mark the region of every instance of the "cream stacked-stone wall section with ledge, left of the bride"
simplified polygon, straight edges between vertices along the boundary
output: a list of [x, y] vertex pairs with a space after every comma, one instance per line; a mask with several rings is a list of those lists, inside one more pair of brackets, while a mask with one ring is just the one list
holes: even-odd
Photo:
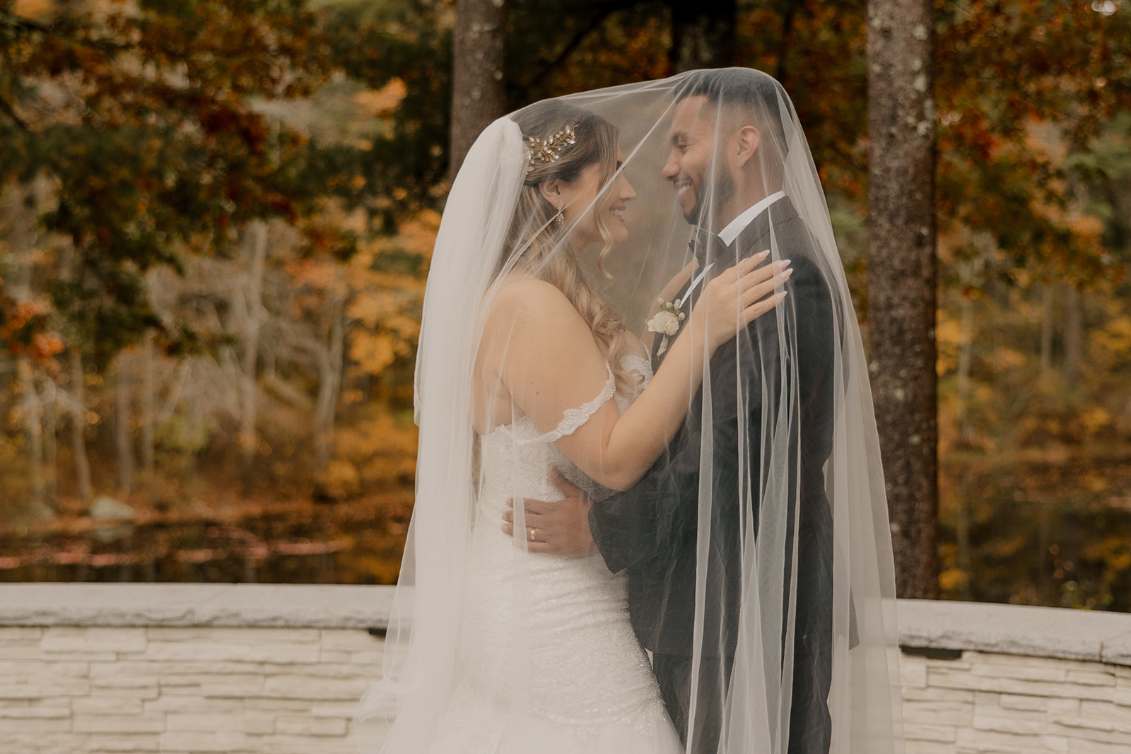
[[[356, 754], [387, 589], [0, 586], [0, 753]], [[14, 623], [21, 625], [11, 625]]]

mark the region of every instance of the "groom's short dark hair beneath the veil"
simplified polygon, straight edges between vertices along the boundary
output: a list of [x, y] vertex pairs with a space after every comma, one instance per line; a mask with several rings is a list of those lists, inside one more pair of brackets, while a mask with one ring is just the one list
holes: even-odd
[[795, 116], [789, 96], [772, 76], [751, 68], [691, 71], [676, 85], [675, 101], [697, 96], [706, 97], [720, 114], [748, 116], [759, 130], [768, 128], [766, 136], [772, 139], [785, 161]]

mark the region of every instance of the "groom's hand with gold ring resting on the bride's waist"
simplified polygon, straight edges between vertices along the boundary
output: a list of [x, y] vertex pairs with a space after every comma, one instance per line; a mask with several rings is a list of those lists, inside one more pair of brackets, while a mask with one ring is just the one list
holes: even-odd
[[[589, 532], [589, 506], [593, 501], [569, 482], [561, 471], [550, 469], [550, 482], [566, 495], [562, 500], [523, 500], [526, 511], [526, 548], [532, 553], [550, 553], [580, 557], [596, 545]], [[507, 501], [502, 530], [515, 536], [515, 501]]]

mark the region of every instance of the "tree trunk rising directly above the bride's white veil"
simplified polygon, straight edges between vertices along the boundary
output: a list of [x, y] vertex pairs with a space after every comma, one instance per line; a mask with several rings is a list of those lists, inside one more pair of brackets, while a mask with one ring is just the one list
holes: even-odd
[[451, 148], [452, 179], [472, 144], [493, 120], [507, 113], [503, 54], [506, 0], [456, 0], [452, 31]]

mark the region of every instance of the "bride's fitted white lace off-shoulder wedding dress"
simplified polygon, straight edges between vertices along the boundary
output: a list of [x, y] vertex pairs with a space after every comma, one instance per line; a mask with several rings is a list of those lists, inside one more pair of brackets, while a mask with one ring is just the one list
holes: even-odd
[[[647, 382], [647, 359], [627, 357]], [[599, 499], [554, 445], [610, 397], [566, 411], [541, 434], [529, 417], [480, 439], [481, 492], [465, 564], [452, 691], [433, 754], [675, 754], [651, 665], [629, 621], [625, 579], [599, 554], [530, 554], [501, 531], [508, 497], [558, 500], [551, 466]], [[629, 400], [615, 395], [623, 413]]]

